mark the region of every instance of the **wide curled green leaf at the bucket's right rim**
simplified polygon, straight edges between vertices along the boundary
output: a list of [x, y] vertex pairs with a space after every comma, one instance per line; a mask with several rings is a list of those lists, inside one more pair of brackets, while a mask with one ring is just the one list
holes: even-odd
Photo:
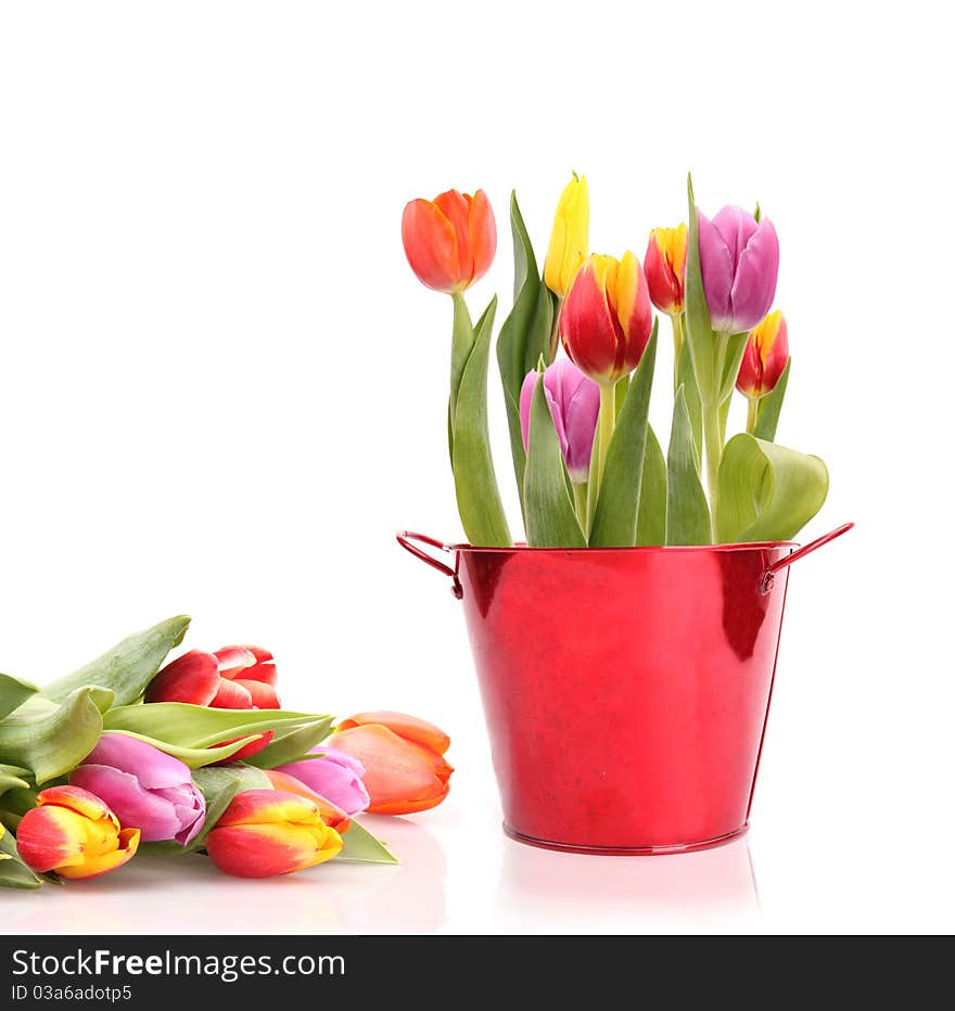
[[735, 435], [720, 463], [720, 541], [790, 540], [822, 509], [828, 490], [818, 457]]

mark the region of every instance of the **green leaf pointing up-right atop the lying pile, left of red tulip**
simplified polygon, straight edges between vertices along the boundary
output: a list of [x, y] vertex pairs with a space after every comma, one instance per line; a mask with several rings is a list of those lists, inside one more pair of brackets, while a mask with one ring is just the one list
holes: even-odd
[[124, 639], [92, 663], [42, 689], [47, 699], [63, 702], [77, 688], [96, 684], [115, 695], [114, 705], [129, 705], [145, 691], [169, 650], [179, 645], [190, 618], [180, 614]]

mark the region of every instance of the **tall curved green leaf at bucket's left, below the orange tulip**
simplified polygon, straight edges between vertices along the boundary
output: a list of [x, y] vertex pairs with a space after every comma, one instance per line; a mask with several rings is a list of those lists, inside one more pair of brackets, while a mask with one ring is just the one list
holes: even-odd
[[497, 297], [474, 328], [474, 346], [464, 364], [455, 406], [454, 474], [458, 512], [472, 545], [510, 547], [487, 431], [487, 358]]

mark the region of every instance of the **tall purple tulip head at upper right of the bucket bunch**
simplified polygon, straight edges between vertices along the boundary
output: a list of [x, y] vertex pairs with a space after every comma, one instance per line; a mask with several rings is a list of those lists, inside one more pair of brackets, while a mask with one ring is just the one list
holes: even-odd
[[717, 333], [748, 333], [773, 307], [779, 272], [776, 229], [741, 207], [724, 207], [712, 221], [698, 216], [710, 322]]

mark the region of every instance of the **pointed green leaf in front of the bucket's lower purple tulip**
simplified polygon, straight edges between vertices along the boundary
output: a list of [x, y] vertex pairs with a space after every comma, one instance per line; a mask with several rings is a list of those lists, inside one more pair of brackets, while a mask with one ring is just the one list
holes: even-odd
[[586, 548], [587, 541], [568, 491], [560, 440], [538, 372], [531, 400], [527, 466], [524, 470], [524, 516], [532, 548]]

